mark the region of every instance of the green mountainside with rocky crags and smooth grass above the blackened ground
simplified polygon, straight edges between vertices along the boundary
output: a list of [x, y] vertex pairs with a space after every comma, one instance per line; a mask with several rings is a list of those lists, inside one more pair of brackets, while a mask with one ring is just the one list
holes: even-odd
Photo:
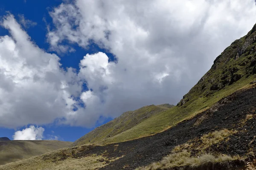
[[[250, 82], [256, 79], [255, 74], [256, 25], [246, 36], [234, 41], [215, 59], [212, 68], [188, 94], [183, 96], [177, 106], [153, 114], [131, 128], [120, 130], [121, 133], [112, 133], [116, 124], [108, 124], [108, 126], [103, 126], [104, 131], [107, 132], [104, 133], [103, 138], [96, 137], [101, 136], [102, 133], [94, 130], [93, 135], [86, 135], [79, 139], [79, 142], [85, 141], [84, 143], [87, 143], [90, 140], [91, 142], [108, 144], [159, 133], [183, 120], [192, 118], [240, 88], [246, 88]], [[111, 135], [106, 137], [106, 134]]]

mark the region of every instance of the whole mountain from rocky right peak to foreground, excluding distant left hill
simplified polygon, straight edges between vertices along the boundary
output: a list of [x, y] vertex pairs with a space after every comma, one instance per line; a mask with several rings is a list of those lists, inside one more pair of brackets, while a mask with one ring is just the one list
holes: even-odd
[[151, 105], [124, 113], [75, 147], [0, 170], [253, 170], [255, 124], [256, 25], [215, 59], [175, 107]]

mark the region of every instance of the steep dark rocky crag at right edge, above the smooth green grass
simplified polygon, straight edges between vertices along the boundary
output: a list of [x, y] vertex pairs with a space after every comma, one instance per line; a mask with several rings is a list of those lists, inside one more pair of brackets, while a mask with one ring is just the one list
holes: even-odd
[[256, 74], [256, 25], [215, 59], [212, 68], [177, 105], [186, 106], [198, 97], [213, 96], [216, 91], [253, 74]]

